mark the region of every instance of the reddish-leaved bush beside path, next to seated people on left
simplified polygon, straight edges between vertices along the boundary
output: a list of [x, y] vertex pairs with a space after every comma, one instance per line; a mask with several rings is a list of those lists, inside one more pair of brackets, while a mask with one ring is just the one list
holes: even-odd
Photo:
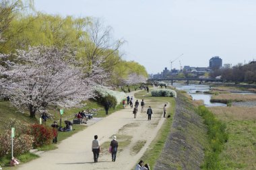
[[31, 134], [34, 136], [33, 146], [51, 144], [54, 134], [52, 128], [43, 126], [41, 124], [32, 124], [31, 128]]

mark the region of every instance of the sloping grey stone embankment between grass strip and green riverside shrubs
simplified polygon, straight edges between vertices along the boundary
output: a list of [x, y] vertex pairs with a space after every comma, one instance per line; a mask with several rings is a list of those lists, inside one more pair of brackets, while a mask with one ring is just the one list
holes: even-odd
[[207, 130], [189, 99], [179, 93], [170, 134], [154, 169], [200, 169]]

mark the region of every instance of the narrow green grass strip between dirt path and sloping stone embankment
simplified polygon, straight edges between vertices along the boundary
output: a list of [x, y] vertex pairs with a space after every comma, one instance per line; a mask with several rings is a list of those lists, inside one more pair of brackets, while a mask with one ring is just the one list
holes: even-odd
[[[154, 167], [154, 165], [156, 164], [156, 161], [158, 160], [158, 157], [162, 153], [162, 149], [164, 148], [164, 143], [170, 132], [170, 127], [172, 125], [172, 119], [173, 119], [174, 110], [175, 110], [175, 100], [173, 97], [150, 97], [150, 96], [151, 96], [150, 93], [146, 93], [146, 91], [140, 91], [139, 93], [135, 93], [135, 97], [137, 99], [148, 99], [151, 101], [158, 101], [162, 103], [169, 102], [170, 107], [167, 109], [167, 114], [171, 115], [170, 118], [164, 121], [164, 124], [162, 125], [162, 128], [160, 128], [158, 135], [152, 141], [146, 153], [144, 153], [143, 157], [141, 157], [141, 159], [145, 163], [150, 164], [150, 167]], [[135, 145], [136, 149], [134, 149], [133, 152], [139, 152], [139, 148], [141, 148], [140, 147], [141, 144], [143, 144], [143, 141], [140, 141]]]

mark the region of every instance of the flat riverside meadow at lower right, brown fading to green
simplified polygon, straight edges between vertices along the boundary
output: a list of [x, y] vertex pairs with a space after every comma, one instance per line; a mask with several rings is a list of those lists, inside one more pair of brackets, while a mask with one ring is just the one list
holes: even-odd
[[221, 169], [256, 169], [256, 110], [214, 107], [210, 110], [226, 123], [228, 142], [220, 154]]

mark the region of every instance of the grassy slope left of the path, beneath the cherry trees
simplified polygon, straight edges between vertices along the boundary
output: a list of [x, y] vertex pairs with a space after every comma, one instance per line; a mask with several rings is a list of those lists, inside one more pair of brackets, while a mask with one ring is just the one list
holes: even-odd
[[[102, 105], [99, 105], [98, 103], [96, 103], [95, 101], [86, 101], [86, 107], [84, 108], [70, 108], [70, 109], [65, 109], [64, 110], [64, 115], [62, 118], [62, 125], [64, 124], [64, 120], [73, 120], [74, 118], [74, 114], [78, 113], [82, 110], [86, 110], [86, 109], [92, 109], [92, 108], [97, 108], [99, 109], [99, 111], [97, 112], [96, 117], [97, 118], [103, 118], [106, 116], [104, 108], [102, 107]], [[113, 112], [116, 112], [117, 110], [121, 110], [123, 109], [123, 105], [119, 104], [117, 105], [117, 107], [115, 108], [115, 110], [113, 108], [110, 108], [110, 110], [108, 110], [108, 114], [112, 114]], [[9, 122], [9, 120], [11, 118], [13, 119], [18, 119], [21, 122], [27, 123], [27, 124], [36, 124], [39, 123], [39, 116], [36, 116], [36, 118], [30, 118], [30, 115], [28, 112], [25, 112], [24, 114], [22, 112], [20, 112], [20, 110], [14, 108], [11, 103], [9, 101], [0, 101], [0, 130], [2, 131], [4, 126], [7, 125], [7, 123]], [[51, 109], [49, 110], [49, 118], [46, 121], [46, 126], [51, 126], [51, 124], [53, 123], [53, 120], [60, 120], [60, 114], [59, 114], [59, 110], [54, 110]], [[89, 120], [90, 121], [90, 120]], [[82, 125], [73, 125], [73, 130], [70, 132], [59, 132], [58, 133], [58, 142], [61, 142], [62, 140], [65, 140], [66, 138], [69, 138], [70, 136], [72, 136], [73, 134], [84, 130], [86, 128], [86, 126], [82, 126]], [[53, 150], [57, 148], [56, 144], [48, 144], [48, 145], [44, 145], [41, 147], [38, 147], [38, 151], [49, 151], [49, 150]], [[14, 153], [15, 156], [15, 153]], [[15, 156], [16, 157], [16, 156]], [[24, 155], [18, 155], [17, 156], [18, 159], [20, 159], [20, 161], [22, 161], [22, 163], [26, 163], [28, 161], [31, 161], [32, 159], [36, 159], [38, 156], [34, 155], [32, 153], [26, 153]], [[9, 166], [9, 160], [11, 159], [10, 155], [7, 155], [5, 157], [1, 157], [0, 158], [0, 165], [3, 166]], [[5, 169], [15, 169], [14, 167], [5, 167]]]

